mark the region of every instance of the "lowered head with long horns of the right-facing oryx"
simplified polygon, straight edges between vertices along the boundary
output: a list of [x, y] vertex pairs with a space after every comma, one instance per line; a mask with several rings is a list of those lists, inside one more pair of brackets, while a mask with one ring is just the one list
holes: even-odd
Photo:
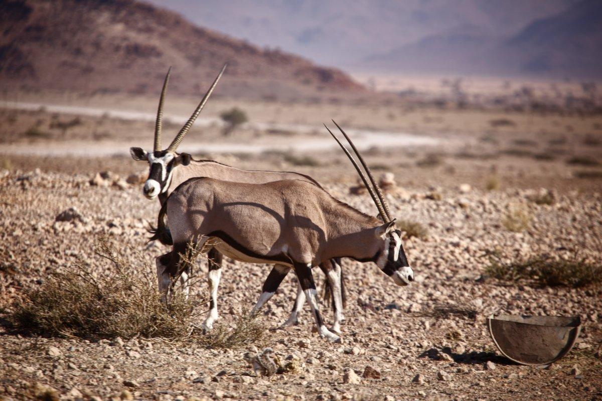
[[370, 169], [365, 163], [364, 158], [362, 158], [362, 156], [359, 154], [357, 148], [355, 147], [349, 136], [347, 136], [345, 131], [334, 120], [332, 120], [332, 122], [335, 123], [338, 129], [341, 130], [341, 133], [343, 133], [343, 135], [347, 139], [347, 142], [349, 142], [349, 144], [351, 145], [353, 152], [355, 152], [356, 156], [358, 156], [359, 162], [361, 162], [362, 166], [364, 167], [371, 185], [370, 183], [368, 183], [368, 179], [362, 172], [361, 168], [359, 168], [359, 165], [357, 164], [351, 153], [349, 153], [349, 150], [347, 150], [347, 148], [341, 143], [341, 141], [339, 141], [337, 136], [335, 136], [334, 133], [332, 133], [332, 131], [328, 127], [326, 127], [326, 124], [324, 124], [324, 126], [326, 127], [328, 132], [330, 132], [330, 135], [332, 135], [332, 137], [335, 138], [338, 144], [341, 145], [341, 148], [343, 148], [347, 157], [349, 157], [353, 166], [358, 171], [362, 182], [364, 182], [364, 185], [368, 189], [368, 192], [370, 193], [374, 204], [376, 204], [380, 217], [384, 222], [384, 224], [379, 225], [378, 227], [374, 227], [374, 236], [379, 242], [378, 251], [376, 253], [377, 257], [376, 260], [374, 260], [374, 262], [380, 268], [380, 270], [383, 271], [383, 273], [391, 277], [395, 284], [397, 284], [398, 286], [407, 286], [409, 283], [411, 283], [411, 281], [414, 281], [414, 272], [412, 271], [412, 268], [410, 268], [408, 259], [406, 258], [406, 253], [403, 250], [402, 232], [395, 227], [395, 219], [391, 218], [389, 205], [388, 203], [386, 203], [386, 199], [380, 191], [376, 180], [374, 180], [374, 177], [370, 173]]

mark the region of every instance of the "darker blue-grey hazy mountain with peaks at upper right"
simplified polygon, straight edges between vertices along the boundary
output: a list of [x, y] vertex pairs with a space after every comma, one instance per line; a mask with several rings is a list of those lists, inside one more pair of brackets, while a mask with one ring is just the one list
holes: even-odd
[[463, 25], [363, 60], [396, 72], [601, 78], [602, 7], [585, 0], [509, 37]]

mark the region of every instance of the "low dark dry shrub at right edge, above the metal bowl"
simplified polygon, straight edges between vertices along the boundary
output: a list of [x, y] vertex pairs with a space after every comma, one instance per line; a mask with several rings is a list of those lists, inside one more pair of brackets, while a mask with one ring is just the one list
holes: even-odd
[[542, 286], [585, 287], [602, 283], [602, 265], [573, 256], [554, 259], [538, 256], [526, 262], [504, 263], [500, 257], [491, 256], [486, 274], [498, 280], [534, 280]]

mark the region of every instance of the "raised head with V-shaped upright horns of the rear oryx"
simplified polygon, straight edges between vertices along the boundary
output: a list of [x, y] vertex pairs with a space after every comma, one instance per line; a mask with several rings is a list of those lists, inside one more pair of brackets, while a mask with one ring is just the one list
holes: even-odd
[[154, 199], [159, 194], [163, 194], [169, 188], [169, 184], [172, 179], [173, 169], [179, 165], [188, 165], [190, 164], [191, 156], [188, 153], [176, 153], [176, 149], [184, 136], [190, 130], [192, 124], [197, 117], [199, 117], [200, 111], [205, 107], [205, 103], [211, 96], [214, 88], [217, 85], [217, 82], [222, 77], [224, 70], [226, 69], [226, 65], [222, 67], [219, 75], [213, 84], [203, 96], [203, 99], [200, 101], [199, 105], [194, 110], [193, 114], [188, 118], [186, 124], [182, 127], [178, 135], [173, 138], [172, 143], [167, 147], [167, 149], [161, 149], [161, 133], [163, 127], [163, 102], [165, 100], [165, 93], [167, 91], [167, 82], [169, 82], [169, 75], [172, 69], [167, 71], [167, 75], [165, 76], [165, 81], [163, 82], [163, 90], [161, 90], [161, 97], [159, 99], [159, 107], [157, 109], [157, 122], [155, 123], [155, 144], [152, 152], [146, 152], [142, 148], [132, 147], [129, 148], [129, 153], [132, 155], [134, 160], [145, 160], [149, 164], [149, 176], [144, 182], [143, 193], [144, 196], [149, 199]]

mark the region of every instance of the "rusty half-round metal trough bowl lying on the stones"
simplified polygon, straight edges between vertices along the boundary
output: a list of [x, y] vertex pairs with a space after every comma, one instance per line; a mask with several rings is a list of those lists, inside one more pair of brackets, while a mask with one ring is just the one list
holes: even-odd
[[513, 316], [487, 319], [489, 333], [504, 357], [524, 365], [547, 365], [573, 348], [581, 330], [579, 316]]

